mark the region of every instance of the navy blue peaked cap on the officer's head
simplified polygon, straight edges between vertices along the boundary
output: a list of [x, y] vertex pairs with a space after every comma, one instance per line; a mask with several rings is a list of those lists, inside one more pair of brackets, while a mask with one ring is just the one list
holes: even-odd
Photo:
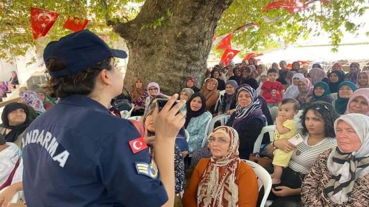
[[109, 57], [126, 58], [127, 53], [110, 49], [100, 37], [85, 29], [50, 42], [43, 56], [45, 62], [49, 58], [58, 58], [63, 62], [64, 69], [49, 71], [51, 77], [59, 78], [83, 71]]

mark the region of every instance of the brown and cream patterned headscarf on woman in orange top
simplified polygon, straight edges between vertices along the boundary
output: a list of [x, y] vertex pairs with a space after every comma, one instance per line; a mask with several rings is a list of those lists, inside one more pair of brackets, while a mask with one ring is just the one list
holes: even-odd
[[[197, 189], [197, 207], [237, 207], [238, 185], [236, 174], [241, 162], [238, 156], [239, 138], [236, 129], [220, 126], [213, 130], [208, 139], [215, 133], [221, 133], [230, 145], [227, 154], [217, 159], [212, 157]], [[209, 142], [208, 142], [209, 143]], [[220, 168], [225, 167], [219, 178]]]

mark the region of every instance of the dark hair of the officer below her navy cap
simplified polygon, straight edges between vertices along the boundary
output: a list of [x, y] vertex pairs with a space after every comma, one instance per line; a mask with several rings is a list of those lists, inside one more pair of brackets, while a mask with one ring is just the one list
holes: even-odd
[[[58, 58], [49, 58], [45, 64], [49, 72], [65, 69], [64, 63]], [[90, 95], [95, 88], [96, 77], [103, 69], [112, 70], [110, 57], [78, 73], [60, 78], [51, 77], [48, 80], [50, 96], [63, 98], [73, 94]]]

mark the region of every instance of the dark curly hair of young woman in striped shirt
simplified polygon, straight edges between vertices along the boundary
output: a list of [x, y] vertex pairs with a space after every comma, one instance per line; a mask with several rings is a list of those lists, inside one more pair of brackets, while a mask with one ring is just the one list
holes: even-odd
[[331, 103], [326, 102], [314, 102], [307, 103], [307, 106], [301, 115], [301, 124], [303, 126], [303, 134], [307, 134], [307, 127], [305, 125], [305, 119], [307, 111], [313, 110], [315, 116], [320, 117], [321, 120], [324, 121], [325, 125], [325, 137], [335, 137], [335, 129], [334, 123], [336, 119], [338, 119], [339, 115], [336, 110], [333, 108]]

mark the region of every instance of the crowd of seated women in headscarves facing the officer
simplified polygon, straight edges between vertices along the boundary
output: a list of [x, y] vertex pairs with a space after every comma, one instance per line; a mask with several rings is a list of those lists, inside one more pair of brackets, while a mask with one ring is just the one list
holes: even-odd
[[[187, 135], [180, 131], [174, 149], [175, 205], [256, 206], [260, 200], [256, 175], [242, 159], [249, 159], [262, 128], [275, 124], [274, 109], [290, 98], [297, 100], [302, 111], [302, 128], [296, 136], [304, 141], [297, 146], [285, 139], [270, 143], [270, 153], [276, 149], [292, 152], [280, 183], [271, 191], [272, 206], [369, 206], [368, 78], [369, 71], [361, 71], [358, 63], [351, 63], [348, 73], [340, 63], [328, 72], [320, 64], [307, 71], [299, 62], [289, 69], [285, 61], [267, 70], [254, 58], [227, 67], [216, 65], [201, 83], [187, 78], [179, 93], [186, 102], [182, 110], [186, 111]], [[4, 85], [0, 82], [0, 87]], [[20, 97], [20, 103], [5, 106], [0, 132], [6, 142], [22, 148], [25, 129], [54, 103], [40, 88], [22, 90]], [[168, 96], [158, 83], [146, 85], [144, 79], [136, 78], [122, 97], [133, 103], [132, 116], [142, 116], [140, 121], [148, 130], [145, 141], [153, 146], [156, 100]], [[220, 114], [230, 115], [226, 126], [207, 136], [209, 122]], [[269, 143], [269, 136], [263, 143]], [[191, 168], [186, 183], [185, 170]]]

